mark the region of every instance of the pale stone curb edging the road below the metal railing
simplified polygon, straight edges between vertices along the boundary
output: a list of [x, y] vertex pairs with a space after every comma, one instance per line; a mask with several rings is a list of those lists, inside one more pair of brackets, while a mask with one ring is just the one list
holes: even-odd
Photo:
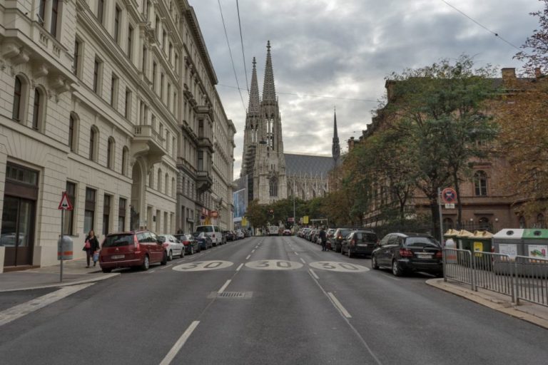
[[431, 287], [444, 290], [445, 292], [455, 294], [458, 297], [468, 299], [471, 302], [481, 304], [484, 307], [494, 309], [498, 312], [507, 314], [514, 318], [522, 319], [523, 321], [527, 321], [544, 329], [548, 329], [548, 319], [523, 312], [519, 309], [519, 306], [510, 301], [502, 301], [495, 298], [485, 298], [479, 294], [476, 294], [475, 292], [472, 292], [471, 289], [460, 289], [452, 286], [451, 284], [446, 284], [443, 279], [428, 279], [426, 281], [426, 284], [430, 285]]

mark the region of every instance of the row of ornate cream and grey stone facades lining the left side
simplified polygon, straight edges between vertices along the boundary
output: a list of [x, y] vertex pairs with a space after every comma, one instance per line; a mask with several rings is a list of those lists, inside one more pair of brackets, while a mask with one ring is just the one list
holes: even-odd
[[228, 214], [233, 128], [187, 1], [10, 1], [0, 13], [0, 269], [57, 262], [64, 191], [75, 257], [91, 229], [181, 229], [183, 173], [191, 220]]

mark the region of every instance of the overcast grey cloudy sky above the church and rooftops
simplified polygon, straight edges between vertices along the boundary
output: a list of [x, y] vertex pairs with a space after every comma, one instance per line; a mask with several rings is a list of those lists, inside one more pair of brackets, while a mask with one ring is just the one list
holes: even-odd
[[[220, 0], [243, 103], [218, 0], [189, 0], [218, 76], [218, 92], [238, 133], [234, 177], [240, 174], [248, 91], [236, 0]], [[450, 5], [466, 14], [453, 9]], [[272, 45], [285, 152], [330, 155], [333, 108], [342, 150], [360, 135], [384, 96], [393, 71], [474, 56], [483, 66], [516, 67], [512, 59], [537, 27], [529, 12], [537, 0], [239, 0], [248, 81], [257, 58], [262, 93], [266, 42]], [[467, 18], [474, 19], [480, 25]], [[483, 27], [482, 27], [483, 26]], [[501, 38], [490, 33], [497, 33]], [[245, 106], [244, 106], [245, 105]]]

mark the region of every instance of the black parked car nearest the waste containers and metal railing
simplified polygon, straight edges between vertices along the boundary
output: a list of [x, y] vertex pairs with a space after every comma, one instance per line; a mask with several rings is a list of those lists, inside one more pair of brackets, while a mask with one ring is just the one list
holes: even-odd
[[389, 233], [380, 240], [371, 256], [373, 269], [387, 267], [399, 277], [406, 272], [443, 274], [442, 247], [430, 235]]

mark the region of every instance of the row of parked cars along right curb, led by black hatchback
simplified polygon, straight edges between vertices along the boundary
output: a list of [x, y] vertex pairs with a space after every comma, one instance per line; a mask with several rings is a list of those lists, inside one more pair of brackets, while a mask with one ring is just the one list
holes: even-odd
[[[299, 230], [298, 236], [319, 245], [319, 232], [305, 227]], [[442, 247], [430, 235], [394, 232], [378, 240], [372, 230], [352, 228], [330, 228], [326, 234], [330, 250], [348, 257], [370, 256], [373, 269], [391, 269], [395, 276], [407, 272], [443, 274]]]

